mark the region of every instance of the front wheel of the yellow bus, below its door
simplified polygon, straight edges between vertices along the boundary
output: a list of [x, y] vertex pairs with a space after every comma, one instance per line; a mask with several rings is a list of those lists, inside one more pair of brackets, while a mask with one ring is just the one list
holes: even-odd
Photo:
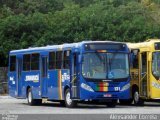
[[133, 101], [134, 101], [134, 105], [143, 105], [144, 104], [144, 101], [142, 99], [140, 99], [140, 97], [139, 97], [138, 90], [134, 91]]

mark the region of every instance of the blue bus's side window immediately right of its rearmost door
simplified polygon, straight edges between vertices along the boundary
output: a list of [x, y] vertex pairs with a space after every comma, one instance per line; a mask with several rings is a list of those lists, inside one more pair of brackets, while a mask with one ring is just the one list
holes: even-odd
[[23, 55], [23, 71], [30, 71], [31, 69], [31, 55]]

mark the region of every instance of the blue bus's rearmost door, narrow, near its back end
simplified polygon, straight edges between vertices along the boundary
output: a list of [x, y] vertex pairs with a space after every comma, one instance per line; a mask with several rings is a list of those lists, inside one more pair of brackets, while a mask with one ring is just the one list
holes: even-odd
[[22, 79], [21, 79], [21, 72], [22, 72], [22, 59], [17, 57], [17, 97], [22, 97]]

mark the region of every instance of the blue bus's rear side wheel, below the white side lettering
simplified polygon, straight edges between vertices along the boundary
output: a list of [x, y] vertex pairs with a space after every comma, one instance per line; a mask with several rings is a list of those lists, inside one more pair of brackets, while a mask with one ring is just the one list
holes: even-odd
[[40, 105], [40, 104], [42, 104], [42, 99], [33, 99], [33, 94], [31, 92], [31, 88], [28, 89], [27, 101], [28, 101], [29, 105]]

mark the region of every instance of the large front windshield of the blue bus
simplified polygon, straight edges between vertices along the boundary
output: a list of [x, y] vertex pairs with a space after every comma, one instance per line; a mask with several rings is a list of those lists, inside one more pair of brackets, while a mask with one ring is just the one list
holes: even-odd
[[129, 76], [126, 53], [85, 53], [82, 75], [89, 79], [121, 79]]

